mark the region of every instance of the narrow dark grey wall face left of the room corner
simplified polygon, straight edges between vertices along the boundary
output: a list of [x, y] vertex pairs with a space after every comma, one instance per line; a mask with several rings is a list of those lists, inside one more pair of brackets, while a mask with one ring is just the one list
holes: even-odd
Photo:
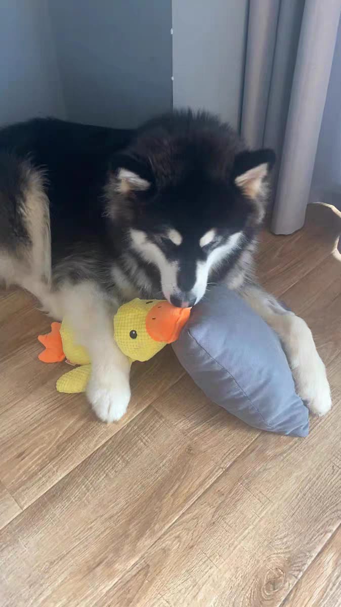
[[64, 117], [46, 0], [0, 1], [0, 124]]

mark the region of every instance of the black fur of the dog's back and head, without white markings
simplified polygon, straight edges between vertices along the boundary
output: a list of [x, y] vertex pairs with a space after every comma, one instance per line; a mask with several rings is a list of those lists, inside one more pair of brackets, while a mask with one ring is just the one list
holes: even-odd
[[[180, 259], [178, 283], [185, 291], [194, 281], [195, 260], [209, 251], [198, 244], [204, 232], [215, 228], [226, 238], [243, 230], [243, 247], [213, 273], [221, 280], [259, 227], [257, 201], [243, 195], [235, 177], [274, 161], [271, 151], [246, 151], [217, 118], [192, 112], [174, 112], [136, 132], [35, 119], [2, 129], [0, 151], [0, 247], [9, 250], [27, 237], [16, 207], [25, 193], [22, 167], [29, 163], [46, 178], [55, 285], [91, 278], [107, 291], [120, 290], [110, 272], [115, 264], [139, 294], [145, 294], [143, 271], [150, 296], [160, 296], [160, 274], [131, 250], [128, 229], [143, 230], [167, 259]], [[140, 175], [149, 188], [122, 195], [120, 168]], [[161, 240], [167, 226], [186, 234], [180, 246]]]

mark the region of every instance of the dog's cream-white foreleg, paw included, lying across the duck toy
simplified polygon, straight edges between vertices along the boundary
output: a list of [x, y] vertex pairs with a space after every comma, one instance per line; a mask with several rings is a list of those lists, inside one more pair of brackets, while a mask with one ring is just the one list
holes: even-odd
[[113, 339], [115, 306], [91, 282], [66, 285], [56, 297], [62, 316], [75, 331], [76, 342], [90, 355], [92, 375], [87, 397], [92, 409], [102, 421], [120, 419], [130, 400], [130, 363]]

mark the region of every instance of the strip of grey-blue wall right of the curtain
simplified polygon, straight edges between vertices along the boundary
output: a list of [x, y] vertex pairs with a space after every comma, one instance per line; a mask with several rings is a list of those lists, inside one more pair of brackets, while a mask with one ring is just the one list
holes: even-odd
[[341, 19], [317, 146], [310, 200], [333, 204], [341, 209]]

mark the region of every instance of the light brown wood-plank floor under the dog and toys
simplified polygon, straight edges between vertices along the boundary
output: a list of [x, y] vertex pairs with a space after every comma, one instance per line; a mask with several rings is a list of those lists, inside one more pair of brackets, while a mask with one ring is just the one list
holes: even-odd
[[260, 277], [311, 325], [334, 406], [306, 439], [209, 402], [171, 348], [133, 367], [118, 424], [60, 395], [49, 319], [0, 296], [2, 607], [341, 605], [341, 215], [264, 234]]

